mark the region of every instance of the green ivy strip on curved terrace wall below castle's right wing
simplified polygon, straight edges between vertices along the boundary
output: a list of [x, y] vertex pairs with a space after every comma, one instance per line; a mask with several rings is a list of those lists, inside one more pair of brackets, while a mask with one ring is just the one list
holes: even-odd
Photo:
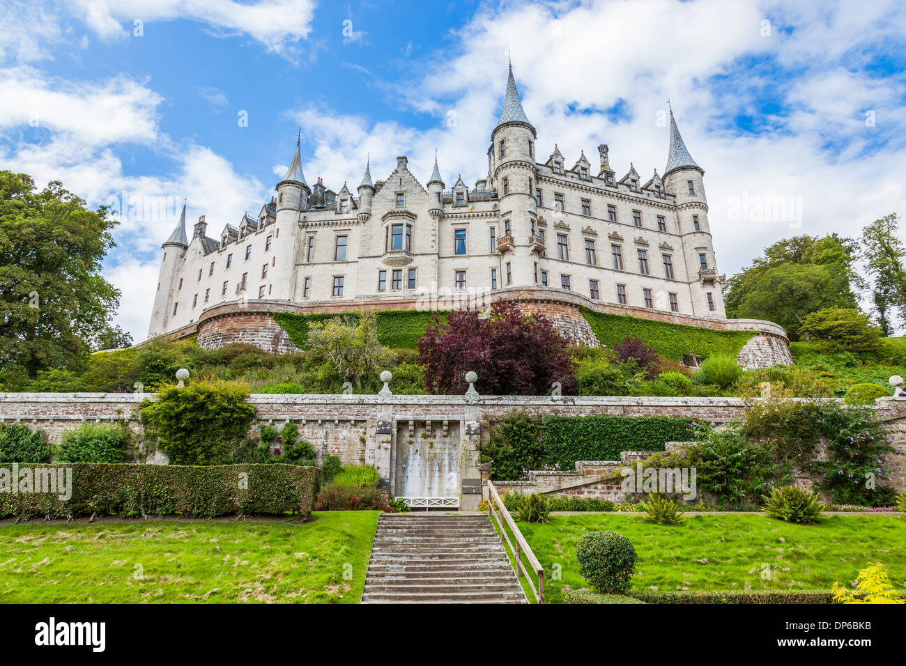
[[640, 319], [628, 314], [598, 313], [581, 306], [579, 311], [592, 327], [598, 342], [606, 347], [612, 348], [627, 336], [639, 337], [661, 356], [678, 362], [689, 353], [699, 358], [718, 353], [737, 356], [743, 346], [757, 335], [754, 331], [714, 331], [684, 323]]

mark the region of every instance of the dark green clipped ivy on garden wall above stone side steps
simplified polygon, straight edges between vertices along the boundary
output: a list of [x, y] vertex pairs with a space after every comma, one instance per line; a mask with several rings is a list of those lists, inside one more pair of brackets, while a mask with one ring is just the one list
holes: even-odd
[[668, 416], [545, 416], [542, 443], [549, 465], [619, 460], [622, 451], [662, 451], [669, 441], [698, 439], [694, 419]]

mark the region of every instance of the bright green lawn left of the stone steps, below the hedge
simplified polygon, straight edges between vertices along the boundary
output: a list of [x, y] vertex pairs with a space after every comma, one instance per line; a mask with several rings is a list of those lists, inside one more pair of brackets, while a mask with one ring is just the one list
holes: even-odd
[[4, 526], [0, 602], [359, 603], [379, 515]]

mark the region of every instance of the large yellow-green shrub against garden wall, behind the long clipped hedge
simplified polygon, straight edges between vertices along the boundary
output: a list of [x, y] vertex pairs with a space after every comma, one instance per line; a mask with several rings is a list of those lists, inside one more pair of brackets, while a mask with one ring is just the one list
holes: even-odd
[[243, 384], [196, 381], [142, 401], [139, 411], [145, 435], [158, 442], [170, 463], [217, 465], [230, 460], [255, 419], [257, 410], [247, 397]]

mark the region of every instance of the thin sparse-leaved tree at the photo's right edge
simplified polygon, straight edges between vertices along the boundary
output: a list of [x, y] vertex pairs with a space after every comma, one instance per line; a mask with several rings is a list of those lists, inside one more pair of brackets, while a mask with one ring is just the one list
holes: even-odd
[[874, 313], [884, 335], [891, 335], [896, 328], [894, 312], [901, 320], [906, 319], [906, 270], [902, 263], [906, 247], [897, 237], [899, 220], [891, 213], [862, 230], [862, 256], [872, 277]]

